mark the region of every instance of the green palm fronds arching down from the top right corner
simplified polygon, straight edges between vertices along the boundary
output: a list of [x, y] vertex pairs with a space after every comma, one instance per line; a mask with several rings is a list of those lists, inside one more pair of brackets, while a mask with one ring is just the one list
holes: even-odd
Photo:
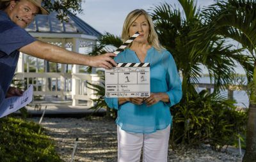
[[[237, 49], [246, 49], [244, 52], [251, 54], [246, 54], [246, 57], [250, 60], [241, 64], [244, 71], [246, 71], [248, 82], [252, 82], [253, 61], [255, 61], [255, 56], [253, 55], [256, 44], [256, 11], [253, 10], [255, 7], [256, 1], [217, 1], [202, 11], [202, 18], [207, 26], [196, 32], [207, 31], [200, 34], [200, 38], [198, 38], [203, 41], [208, 40], [213, 35], [219, 35], [240, 43], [241, 47], [237, 47]], [[237, 59], [243, 61], [241, 57], [243, 55], [240, 55], [240, 58], [237, 57]]]

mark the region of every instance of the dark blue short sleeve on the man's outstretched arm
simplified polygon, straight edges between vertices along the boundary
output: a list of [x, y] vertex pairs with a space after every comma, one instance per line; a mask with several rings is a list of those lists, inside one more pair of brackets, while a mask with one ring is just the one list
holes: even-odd
[[0, 38], [0, 50], [8, 55], [36, 41], [27, 31], [10, 21], [1, 21]]

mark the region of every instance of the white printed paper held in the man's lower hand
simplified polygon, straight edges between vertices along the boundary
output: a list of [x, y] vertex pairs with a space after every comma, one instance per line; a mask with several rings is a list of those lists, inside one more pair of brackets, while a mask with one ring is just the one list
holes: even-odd
[[22, 107], [28, 105], [33, 99], [33, 85], [23, 92], [22, 96], [13, 96], [4, 99], [0, 106], [0, 118], [16, 112]]

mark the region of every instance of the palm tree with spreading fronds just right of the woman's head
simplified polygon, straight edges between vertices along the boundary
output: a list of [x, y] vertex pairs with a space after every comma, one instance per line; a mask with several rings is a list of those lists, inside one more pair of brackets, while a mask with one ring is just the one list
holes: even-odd
[[[231, 49], [232, 45], [226, 45], [223, 37], [213, 36], [207, 41], [196, 40], [198, 35], [195, 34], [195, 31], [204, 27], [199, 10], [196, 10], [194, 1], [180, 1], [180, 4], [182, 4], [184, 13], [186, 13], [185, 17], [182, 16], [182, 11], [167, 3], [155, 6], [151, 11], [159, 40], [165, 48], [172, 52], [179, 71], [182, 71], [184, 94], [182, 103], [189, 105], [189, 99], [200, 97], [195, 90], [195, 83], [198, 83], [198, 77], [202, 75], [198, 65], [204, 65], [208, 68], [211, 79], [215, 80], [216, 88], [214, 90], [218, 92], [217, 90], [222, 84], [232, 82], [230, 73], [234, 73], [235, 61], [239, 61], [239, 63], [248, 67], [250, 67], [250, 63], [247, 57], [237, 54], [241, 50], [234, 50]], [[104, 53], [103, 47], [105, 45], [119, 47], [121, 44], [122, 41], [118, 36], [106, 33], [99, 38], [99, 44], [93, 48], [90, 55]], [[97, 94], [102, 95], [104, 87], [94, 85], [92, 87]], [[187, 98], [185, 95], [190, 96]], [[99, 101], [98, 103], [100, 104], [95, 105], [95, 110], [99, 107], [106, 107], [104, 102]], [[186, 128], [186, 126], [184, 127]]]

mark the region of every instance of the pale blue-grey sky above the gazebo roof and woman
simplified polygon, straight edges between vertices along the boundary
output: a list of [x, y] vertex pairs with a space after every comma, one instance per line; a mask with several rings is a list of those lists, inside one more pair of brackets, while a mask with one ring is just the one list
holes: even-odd
[[[144, 9], [158, 6], [161, 3], [172, 4], [179, 7], [177, 0], [82, 0], [83, 13], [77, 14], [94, 29], [104, 34], [106, 32], [120, 36], [127, 14], [135, 9]], [[214, 0], [197, 0], [201, 9], [214, 3]], [[237, 73], [244, 73], [241, 67], [236, 68]], [[204, 70], [205, 73], [205, 70]]]

